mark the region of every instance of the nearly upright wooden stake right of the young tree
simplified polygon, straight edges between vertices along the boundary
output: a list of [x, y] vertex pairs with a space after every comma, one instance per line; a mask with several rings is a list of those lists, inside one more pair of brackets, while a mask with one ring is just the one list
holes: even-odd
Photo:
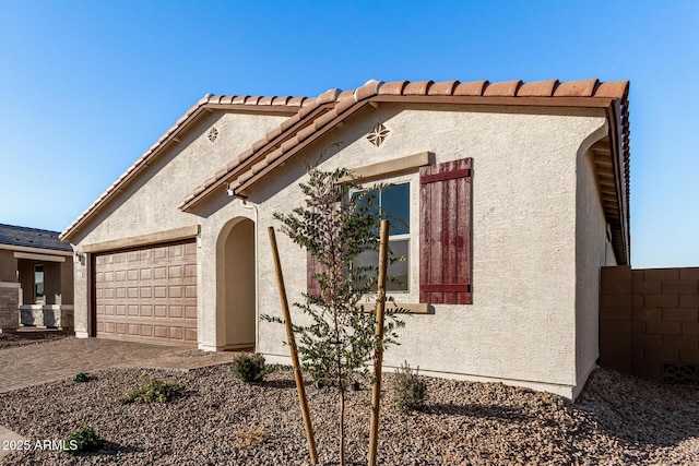
[[[381, 220], [379, 244], [379, 284], [376, 304], [376, 337], [383, 340], [383, 313], [386, 310], [386, 276], [389, 256], [389, 222]], [[374, 387], [371, 392], [371, 426], [369, 430], [369, 466], [376, 466], [379, 444], [379, 407], [381, 404], [381, 366], [383, 365], [383, 345], [374, 354]]]

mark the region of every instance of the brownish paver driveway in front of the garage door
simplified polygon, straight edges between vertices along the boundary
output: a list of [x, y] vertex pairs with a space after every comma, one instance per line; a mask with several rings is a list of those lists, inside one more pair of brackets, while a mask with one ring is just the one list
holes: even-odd
[[[7, 348], [0, 350], [0, 402], [2, 393], [72, 379], [79, 372], [115, 367], [189, 370], [227, 363], [234, 357], [234, 353], [73, 337]], [[0, 458], [10, 454], [3, 444], [16, 440], [22, 437], [0, 425]]]

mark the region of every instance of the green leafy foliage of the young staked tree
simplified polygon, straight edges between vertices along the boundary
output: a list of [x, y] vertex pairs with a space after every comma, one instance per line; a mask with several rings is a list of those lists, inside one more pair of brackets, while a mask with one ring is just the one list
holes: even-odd
[[[377, 193], [384, 186], [364, 190], [350, 170], [322, 171], [310, 168], [308, 181], [300, 184], [305, 206], [289, 214], [275, 213], [282, 231], [320, 264], [312, 279], [320, 292], [304, 294], [304, 302], [294, 306], [309, 319], [295, 325], [297, 349], [303, 366], [317, 381], [344, 392], [354, 374], [367, 375], [374, 350], [395, 343], [396, 328], [404, 323], [388, 312], [386, 335], [375, 335], [377, 266], [356, 266], [354, 261], [366, 251], [378, 251], [382, 212]], [[396, 260], [395, 258], [393, 260]], [[374, 299], [376, 301], [376, 299]], [[279, 318], [263, 315], [270, 322]]]

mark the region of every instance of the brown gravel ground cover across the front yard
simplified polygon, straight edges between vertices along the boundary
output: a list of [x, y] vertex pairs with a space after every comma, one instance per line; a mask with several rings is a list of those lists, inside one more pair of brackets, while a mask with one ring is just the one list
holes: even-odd
[[[7, 465], [306, 465], [309, 464], [293, 373], [247, 385], [230, 365], [190, 371], [147, 370], [182, 385], [167, 404], [119, 405], [143, 383], [143, 370], [109, 369], [0, 395], [0, 423], [36, 440], [94, 427], [98, 452], [13, 452]], [[422, 413], [391, 403], [384, 377], [382, 465], [699, 464], [699, 390], [595, 370], [578, 402], [496, 383], [426, 378]], [[337, 464], [336, 398], [308, 385], [321, 464]], [[366, 464], [370, 391], [350, 393], [347, 458]]]

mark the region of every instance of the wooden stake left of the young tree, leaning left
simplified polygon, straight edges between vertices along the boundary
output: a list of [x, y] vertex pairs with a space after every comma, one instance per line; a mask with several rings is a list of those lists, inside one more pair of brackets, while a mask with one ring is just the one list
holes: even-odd
[[317, 465], [318, 453], [316, 452], [316, 439], [313, 438], [313, 427], [310, 422], [310, 413], [308, 411], [304, 375], [301, 374], [300, 365], [298, 363], [296, 339], [294, 338], [294, 330], [292, 327], [292, 314], [288, 310], [286, 287], [284, 286], [284, 275], [282, 275], [282, 263], [280, 262], [280, 251], [276, 248], [276, 236], [274, 235], [273, 227], [269, 227], [266, 231], [270, 235], [270, 243], [272, 244], [272, 256], [274, 259], [274, 270], [276, 271], [276, 286], [280, 290], [280, 301], [282, 302], [284, 325], [286, 326], [286, 338], [288, 339], [288, 348], [292, 353], [292, 366], [294, 367], [294, 380], [296, 381], [296, 391], [298, 392], [298, 403], [301, 406], [301, 414], [304, 415], [304, 428], [306, 429], [306, 440], [308, 441], [308, 453], [310, 454], [310, 463]]

